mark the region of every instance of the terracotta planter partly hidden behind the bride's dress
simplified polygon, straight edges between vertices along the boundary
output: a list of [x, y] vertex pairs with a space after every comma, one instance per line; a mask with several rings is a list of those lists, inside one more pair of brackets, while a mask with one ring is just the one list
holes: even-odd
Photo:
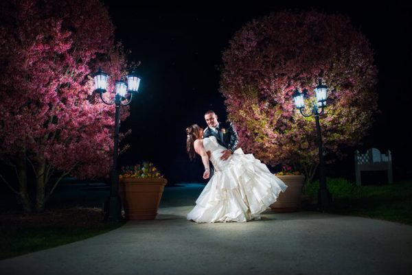
[[274, 212], [295, 212], [301, 208], [301, 190], [304, 186], [305, 176], [277, 176], [287, 186], [286, 191], [279, 193], [279, 198], [274, 204], [271, 204], [271, 209]]

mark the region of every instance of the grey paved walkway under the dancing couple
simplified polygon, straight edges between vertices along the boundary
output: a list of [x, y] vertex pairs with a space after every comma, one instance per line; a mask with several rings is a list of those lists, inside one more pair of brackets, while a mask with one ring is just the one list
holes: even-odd
[[310, 211], [196, 224], [192, 205], [168, 206], [178, 190], [155, 220], [0, 261], [0, 274], [412, 274], [412, 226]]

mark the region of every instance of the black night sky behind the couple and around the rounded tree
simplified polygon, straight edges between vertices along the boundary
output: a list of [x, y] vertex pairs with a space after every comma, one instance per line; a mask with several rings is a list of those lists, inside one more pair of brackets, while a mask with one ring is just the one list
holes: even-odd
[[[218, 93], [221, 53], [233, 34], [245, 23], [284, 9], [339, 12], [369, 38], [379, 69], [379, 108], [371, 134], [359, 148], [391, 149], [396, 171], [407, 174], [406, 161], [412, 138], [407, 100], [411, 99], [411, 10], [395, 1], [361, 6], [358, 2], [276, 5], [249, 3], [244, 10], [155, 5], [130, 5], [126, 1], [104, 1], [108, 5], [116, 38], [130, 49], [130, 61], [141, 60], [140, 93], [131, 104], [130, 117], [122, 130], [132, 129], [131, 145], [120, 162], [151, 160], [171, 183], [201, 179], [201, 162], [190, 163], [185, 154], [185, 128], [205, 125], [203, 113], [213, 109], [225, 121], [223, 98]], [[396, 123], [403, 119], [400, 127]], [[353, 148], [348, 150], [353, 152]], [[336, 166], [338, 165], [338, 166]], [[330, 174], [352, 175], [352, 156], [330, 167]], [[339, 168], [341, 167], [341, 168]], [[411, 173], [409, 168], [409, 173]], [[411, 174], [409, 174], [411, 176]]]

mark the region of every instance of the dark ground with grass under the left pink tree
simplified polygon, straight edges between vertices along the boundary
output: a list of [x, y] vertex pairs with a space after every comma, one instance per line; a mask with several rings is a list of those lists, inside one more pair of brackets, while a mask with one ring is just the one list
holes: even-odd
[[101, 208], [57, 208], [44, 213], [0, 213], [0, 259], [61, 246], [108, 232]]

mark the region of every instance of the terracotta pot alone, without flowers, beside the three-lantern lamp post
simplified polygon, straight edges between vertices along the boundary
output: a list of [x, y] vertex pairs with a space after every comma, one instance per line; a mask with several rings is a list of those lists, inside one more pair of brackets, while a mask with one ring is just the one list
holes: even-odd
[[155, 219], [168, 180], [122, 178], [119, 181], [126, 219]]

